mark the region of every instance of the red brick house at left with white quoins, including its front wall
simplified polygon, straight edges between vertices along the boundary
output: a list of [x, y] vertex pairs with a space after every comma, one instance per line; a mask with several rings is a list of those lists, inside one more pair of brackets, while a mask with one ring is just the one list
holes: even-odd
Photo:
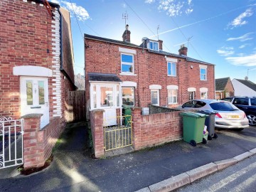
[[67, 93], [75, 90], [70, 14], [58, 4], [44, 3], [0, 1], [0, 117], [43, 114], [38, 127], [28, 124], [36, 133], [24, 134], [25, 159], [41, 152], [48, 158], [66, 124]]

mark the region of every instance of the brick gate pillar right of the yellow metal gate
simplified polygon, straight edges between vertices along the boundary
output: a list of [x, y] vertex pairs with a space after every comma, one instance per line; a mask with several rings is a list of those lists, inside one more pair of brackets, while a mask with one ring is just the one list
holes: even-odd
[[142, 117], [142, 108], [133, 107], [132, 108], [132, 143], [135, 150], [142, 149], [141, 145], [141, 118]]

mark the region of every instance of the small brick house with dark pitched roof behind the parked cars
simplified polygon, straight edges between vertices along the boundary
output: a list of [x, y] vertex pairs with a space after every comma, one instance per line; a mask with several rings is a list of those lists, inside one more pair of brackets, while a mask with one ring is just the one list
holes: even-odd
[[215, 79], [215, 99], [234, 96], [235, 90], [230, 78]]

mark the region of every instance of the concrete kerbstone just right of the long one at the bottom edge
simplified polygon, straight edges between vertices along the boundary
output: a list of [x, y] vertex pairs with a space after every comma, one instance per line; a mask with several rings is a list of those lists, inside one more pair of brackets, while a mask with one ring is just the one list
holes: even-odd
[[218, 171], [217, 165], [210, 163], [204, 166], [199, 166], [198, 168], [192, 169], [191, 171], [187, 171], [186, 174], [189, 175], [190, 181], [192, 183], [193, 181], [196, 181], [196, 179], [212, 174], [215, 171]]

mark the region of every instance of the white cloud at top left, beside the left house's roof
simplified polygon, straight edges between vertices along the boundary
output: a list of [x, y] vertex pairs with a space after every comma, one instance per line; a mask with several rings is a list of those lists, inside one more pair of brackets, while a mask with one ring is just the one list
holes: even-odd
[[64, 4], [63, 7], [65, 7], [65, 9], [68, 9], [68, 11], [70, 11], [71, 15], [73, 15], [75, 11], [75, 15], [77, 16], [79, 21], [85, 21], [90, 18], [88, 12], [82, 6], [78, 6], [75, 3], [70, 4], [70, 2], [67, 1], [61, 1], [61, 3]]

